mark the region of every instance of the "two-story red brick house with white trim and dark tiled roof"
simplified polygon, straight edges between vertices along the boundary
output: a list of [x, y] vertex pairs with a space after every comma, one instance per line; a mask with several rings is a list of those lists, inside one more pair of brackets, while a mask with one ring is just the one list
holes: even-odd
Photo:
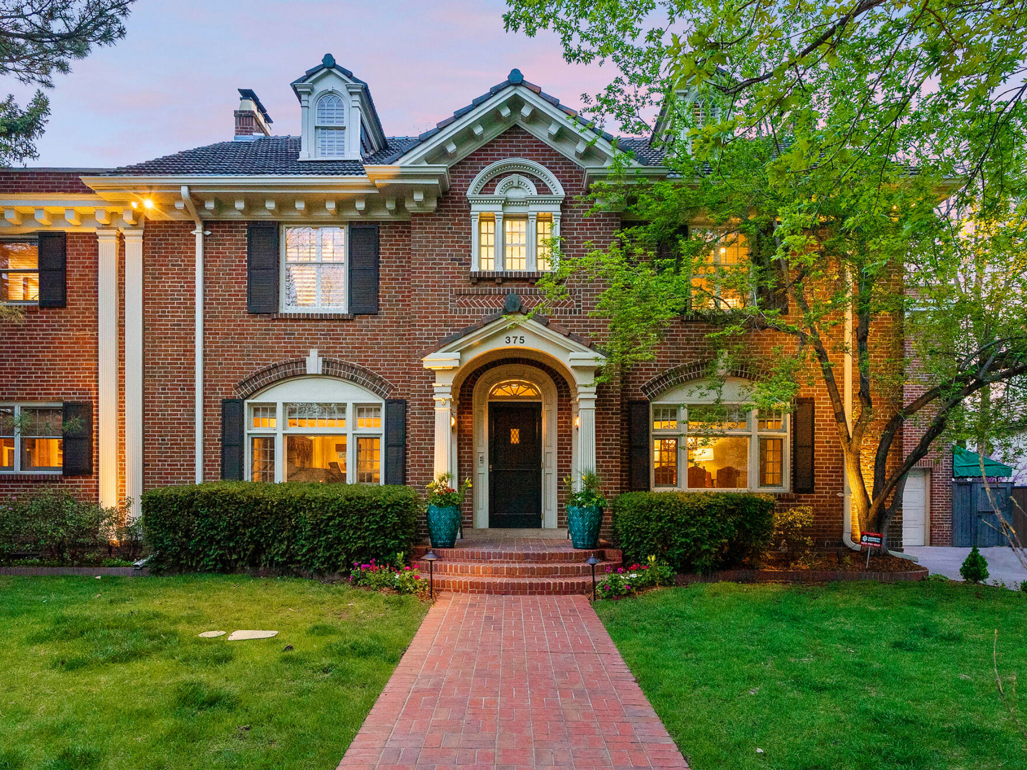
[[[385, 136], [368, 84], [331, 55], [292, 86], [300, 137], [271, 136], [240, 89], [231, 141], [0, 170], [2, 299], [25, 315], [0, 343], [16, 426], [0, 494], [61, 484], [138, 510], [161, 485], [423, 489], [453, 472], [474, 484], [466, 527], [556, 528], [562, 479], [596, 469], [608, 494], [769, 492], [814, 507], [819, 543], [847, 537], [825, 393], [791, 414], [729, 409], [711, 430], [700, 321], [597, 385], [598, 286], [526, 317], [553, 238], [579, 255], [620, 225], [579, 197], [610, 172], [613, 137], [517, 70], [419, 137]], [[633, 172], [667, 174], [648, 140], [618, 144]], [[729, 373], [723, 400], [749, 380]]]

